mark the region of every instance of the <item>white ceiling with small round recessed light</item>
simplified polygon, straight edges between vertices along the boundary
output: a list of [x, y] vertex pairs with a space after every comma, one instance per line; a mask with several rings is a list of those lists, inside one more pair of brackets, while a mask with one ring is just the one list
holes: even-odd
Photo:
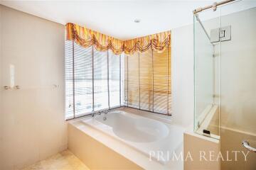
[[[193, 9], [215, 1], [0, 1], [0, 4], [56, 23], [78, 23], [114, 38], [127, 40], [193, 23]], [[225, 14], [256, 6], [240, 1]], [[215, 18], [210, 12], [206, 18]], [[139, 18], [140, 23], [134, 23]]]

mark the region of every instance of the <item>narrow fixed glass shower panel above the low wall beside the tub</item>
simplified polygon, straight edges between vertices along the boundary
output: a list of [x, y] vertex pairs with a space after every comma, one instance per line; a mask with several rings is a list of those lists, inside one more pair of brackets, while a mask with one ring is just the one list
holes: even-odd
[[[208, 18], [215, 18], [208, 20]], [[194, 131], [219, 139], [218, 65], [220, 42], [211, 30], [220, 28], [220, 10], [194, 15]], [[212, 36], [212, 38], [214, 38]], [[218, 39], [218, 37], [216, 37]]]

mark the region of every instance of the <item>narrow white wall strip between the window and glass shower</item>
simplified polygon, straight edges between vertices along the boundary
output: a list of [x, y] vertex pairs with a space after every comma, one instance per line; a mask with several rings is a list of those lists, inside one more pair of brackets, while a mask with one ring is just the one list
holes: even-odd
[[171, 30], [171, 81], [174, 123], [184, 127], [191, 126], [193, 125], [193, 25]]

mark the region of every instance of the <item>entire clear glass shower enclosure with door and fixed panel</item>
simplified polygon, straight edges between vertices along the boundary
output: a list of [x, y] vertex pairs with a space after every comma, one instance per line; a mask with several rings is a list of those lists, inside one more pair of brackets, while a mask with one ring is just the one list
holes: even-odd
[[220, 169], [255, 170], [256, 1], [193, 17], [194, 132], [220, 141]]

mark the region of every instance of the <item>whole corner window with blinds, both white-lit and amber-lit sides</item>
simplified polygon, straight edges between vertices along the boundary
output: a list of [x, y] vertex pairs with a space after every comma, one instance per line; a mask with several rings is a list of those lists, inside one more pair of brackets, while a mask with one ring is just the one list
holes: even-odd
[[114, 55], [65, 41], [65, 113], [128, 106], [171, 115], [171, 50]]

